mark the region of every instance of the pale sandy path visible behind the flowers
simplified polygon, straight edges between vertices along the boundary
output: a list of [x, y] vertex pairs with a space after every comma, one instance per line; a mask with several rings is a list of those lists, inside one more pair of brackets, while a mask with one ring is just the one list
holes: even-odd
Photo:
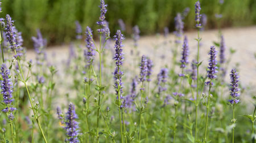
[[[200, 33], [202, 37], [201, 47], [200, 47], [200, 60], [203, 60], [203, 64], [206, 66], [208, 63], [208, 51], [209, 47], [213, 45], [213, 41], [218, 41], [217, 38], [218, 31], [204, 31]], [[238, 68], [241, 76], [241, 83], [243, 85], [256, 85], [256, 59], [254, 58], [254, 53], [256, 53], [256, 27], [246, 27], [246, 28], [228, 28], [222, 29], [222, 34], [225, 37], [226, 43], [226, 57], [229, 57], [229, 48], [236, 50], [233, 55], [232, 60], [229, 64], [228, 71], [231, 68]], [[197, 41], [194, 38], [197, 37], [197, 32], [185, 32], [189, 40], [190, 54], [189, 59], [195, 58], [197, 52]], [[145, 54], [154, 60], [154, 72], [159, 72], [159, 68], [164, 67], [164, 65], [171, 64], [171, 49], [174, 47], [175, 37], [170, 34], [168, 38], [163, 36], [144, 36], [141, 37], [138, 44], [139, 54]], [[166, 41], [171, 41], [172, 43], [166, 44]], [[130, 50], [133, 48], [133, 41], [127, 38], [123, 42], [125, 59], [130, 59]], [[68, 58], [68, 45], [64, 46], [53, 46], [47, 49], [48, 55], [55, 53], [53, 63], [61, 63], [63, 60]], [[155, 48], [157, 47], [157, 48]], [[49, 56], [51, 57], [51, 56]], [[165, 58], [161, 58], [165, 57]], [[34, 59], [35, 53], [33, 50], [28, 50], [28, 59]], [[177, 59], [179, 60], [180, 54]], [[126, 65], [131, 65], [131, 60], [125, 60]], [[226, 76], [226, 80], [229, 76]]]

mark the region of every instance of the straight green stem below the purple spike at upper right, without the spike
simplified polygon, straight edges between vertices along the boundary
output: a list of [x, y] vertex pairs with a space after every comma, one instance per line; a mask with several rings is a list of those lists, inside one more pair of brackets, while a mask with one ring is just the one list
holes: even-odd
[[[200, 41], [199, 41], [199, 29], [197, 29], [197, 64], [199, 64], [199, 49], [200, 49]], [[200, 102], [199, 99], [199, 66], [197, 65], [197, 79], [196, 79], [196, 124], [195, 124], [195, 140], [197, 140], [197, 112], [198, 112], [198, 105]]]

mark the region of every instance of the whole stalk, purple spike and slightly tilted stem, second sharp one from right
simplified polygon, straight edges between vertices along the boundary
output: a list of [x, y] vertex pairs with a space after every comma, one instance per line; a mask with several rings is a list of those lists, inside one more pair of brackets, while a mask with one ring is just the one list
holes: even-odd
[[210, 59], [209, 59], [209, 66], [208, 66], [208, 71], [207, 71], [207, 76], [209, 78], [210, 81], [207, 81], [205, 84], [206, 85], [209, 85], [209, 92], [208, 92], [208, 100], [207, 100], [207, 114], [205, 116], [205, 128], [204, 128], [204, 138], [203, 138], [203, 141], [206, 140], [206, 136], [207, 136], [207, 127], [208, 127], [208, 114], [209, 114], [209, 108], [210, 108], [210, 88], [212, 88], [212, 80], [213, 79], [216, 79], [216, 73], [218, 72], [217, 71], [217, 59], [216, 59], [216, 56], [217, 56], [217, 51], [215, 49], [214, 46], [211, 46], [210, 47], [210, 52], [209, 52], [209, 55], [210, 55]]

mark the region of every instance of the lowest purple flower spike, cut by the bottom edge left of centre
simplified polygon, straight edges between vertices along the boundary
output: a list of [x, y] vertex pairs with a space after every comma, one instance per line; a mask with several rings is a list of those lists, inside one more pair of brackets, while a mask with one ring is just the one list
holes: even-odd
[[76, 119], [78, 119], [78, 117], [76, 115], [75, 105], [69, 103], [68, 112], [65, 117], [65, 129], [67, 131], [68, 138], [66, 138], [65, 141], [72, 143], [79, 142], [77, 138], [77, 135], [79, 135], [79, 123], [76, 122]]

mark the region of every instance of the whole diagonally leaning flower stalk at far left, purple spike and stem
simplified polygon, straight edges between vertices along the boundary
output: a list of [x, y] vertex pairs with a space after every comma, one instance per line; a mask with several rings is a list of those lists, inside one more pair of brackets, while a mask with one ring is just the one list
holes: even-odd
[[[16, 44], [17, 42], [16, 42], [16, 35], [15, 35], [15, 32], [14, 32], [14, 29], [15, 29], [14, 21], [11, 20], [10, 15], [6, 15], [6, 29], [5, 29], [6, 30], [6, 38], [10, 43], [9, 48], [11, 50], [14, 50], [15, 55], [17, 55], [16, 49], [19, 48], [19, 45]], [[26, 87], [28, 98], [30, 100], [31, 109], [32, 109], [33, 114], [34, 114], [34, 118], [36, 120], [36, 123], [38, 124], [38, 127], [40, 129], [40, 132], [41, 132], [43, 138], [44, 138], [44, 141], [47, 142], [46, 137], [45, 137], [44, 132], [43, 132], [43, 129], [42, 129], [41, 124], [39, 122], [39, 117], [38, 117], [37, 111], [36, 111], [36, 109], [35, 109], [35, 107], [32, 103], [32, 98], [30, 96], [30, 91], [28, 90], [28, 86], [27, 86], [27, 79], [25, 79], [25, 77], [23, 75], [22, 67], [20, 66], [20, 58], [17, 58], [17, 60], [18, 60], [19, 70], [20, 70], [20, 73], [22, 75], [22, 79], [20, 78], [20, 80], [24, 83], [24, 86]]]

